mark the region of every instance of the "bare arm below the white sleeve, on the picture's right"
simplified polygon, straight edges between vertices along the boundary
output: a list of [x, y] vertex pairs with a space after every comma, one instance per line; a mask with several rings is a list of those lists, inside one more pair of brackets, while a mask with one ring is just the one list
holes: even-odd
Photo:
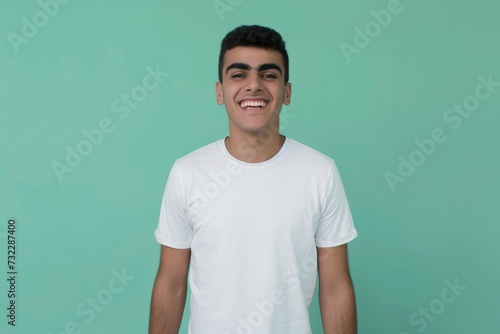
[[325, 334], [356, 334], [356, 300], [347, 244], [318, 250], [319, 306]]

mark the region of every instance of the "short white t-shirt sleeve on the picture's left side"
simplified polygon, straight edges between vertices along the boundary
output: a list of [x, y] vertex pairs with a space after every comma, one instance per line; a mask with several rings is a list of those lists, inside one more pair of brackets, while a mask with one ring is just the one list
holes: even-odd
[[184, 196], [182, 196], [182, 178], [177, 161], [168, 176], [160, 208], [158, 227], [154, 235], [160, 244], [172, 248], [191, 247], [193, 230], [186, 215]]

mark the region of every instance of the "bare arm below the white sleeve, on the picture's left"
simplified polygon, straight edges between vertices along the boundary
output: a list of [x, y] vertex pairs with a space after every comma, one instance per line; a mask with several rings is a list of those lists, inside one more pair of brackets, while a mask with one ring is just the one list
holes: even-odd
[[161, 246], [151, 297], [149, 334], [178, 334], [186, 303], [191, 249]]

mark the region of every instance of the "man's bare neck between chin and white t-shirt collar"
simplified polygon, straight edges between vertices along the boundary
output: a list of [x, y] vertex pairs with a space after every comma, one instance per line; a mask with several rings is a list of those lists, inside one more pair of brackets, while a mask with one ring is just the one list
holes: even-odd
[[258, 134], [230, 133], [225, 145], [236, 159], [248, 163], [264, 162], [274, 157], [283, 147], [285, 136], [266, 131]]

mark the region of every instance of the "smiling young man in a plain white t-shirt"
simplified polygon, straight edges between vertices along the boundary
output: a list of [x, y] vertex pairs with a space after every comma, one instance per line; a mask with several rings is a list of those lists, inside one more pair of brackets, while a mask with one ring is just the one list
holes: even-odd
[[357, 236], [334, 161], [279, 133], [288, 55], [276, 31], [241, 26], [222, 41], [216, 97], [229, 136], [175, 161], [156, 240], [149, 333], [311, 333], [319, 276], [326, 334], [356, 333], [347, 242]]

